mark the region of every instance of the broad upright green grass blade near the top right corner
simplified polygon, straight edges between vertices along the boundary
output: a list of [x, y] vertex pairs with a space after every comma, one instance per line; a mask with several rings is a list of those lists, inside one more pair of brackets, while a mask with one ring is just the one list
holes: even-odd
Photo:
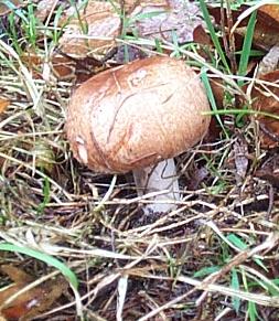
[[[248, 61], [251, 52], [253, 35], [255, 31], [255, 25], [257, 22], [257, 11], [251, 13], [249, 19], [247, 31], [244, 39], [243, 51], [240, 55], [239, 66], [238, 66], [238, 76], [245, 76], [247, 73]], [[244, 81], [238, 81], [238, 85], [243, 86]]]

